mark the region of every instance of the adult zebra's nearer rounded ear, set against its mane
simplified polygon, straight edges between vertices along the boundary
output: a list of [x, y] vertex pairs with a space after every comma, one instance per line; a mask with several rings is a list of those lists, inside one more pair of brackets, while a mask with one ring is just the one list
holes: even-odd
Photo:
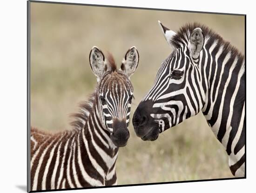
[[197, 59], [204, 44], [202, 29], [197, 27], [189, 37], [189, 52], [194, 59]]

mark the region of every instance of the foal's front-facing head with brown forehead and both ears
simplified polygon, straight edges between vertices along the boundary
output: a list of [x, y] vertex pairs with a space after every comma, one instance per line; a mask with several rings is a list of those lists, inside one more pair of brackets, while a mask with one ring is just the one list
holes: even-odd
[[129, 77], [138, 66], [139, 53], [136, 47], [131, 47], [120, 70], [116, 69], [113, 56], [108, 54], [105, 60], [104, 54], [97, 47], [92, 48], [89, 59], [98, 81], [96, 103], [101, 121], [115, 146], [125, 146], [130, 136], [128, 125], [133, 98]]

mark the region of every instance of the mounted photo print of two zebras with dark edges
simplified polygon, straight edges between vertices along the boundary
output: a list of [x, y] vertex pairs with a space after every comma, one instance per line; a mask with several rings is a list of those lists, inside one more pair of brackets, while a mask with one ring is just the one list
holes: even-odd
[[245, 15], [27, 6], [28, 192], [246, 178]]

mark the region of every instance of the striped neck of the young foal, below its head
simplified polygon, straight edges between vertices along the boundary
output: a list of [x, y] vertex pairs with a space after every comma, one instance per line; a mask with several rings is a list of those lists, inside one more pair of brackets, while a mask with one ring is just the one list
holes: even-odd
[[[115, 175], [118, 147], [113, 144], [110, 133], [104, 128], [96, 105], [89, 113], [85, 126], [79, 131], [78, 139], [82, 164], [85, 168], [92, 165], [91, 168], [95, 168], [97, 171], [88, 173], [88, 175], [96, 175], [95, 178], [101, 183], [112, 179]], [[90, 163], [86, 160], [90, 160]], [[105, 179], [101, 179], [103, 176]]]

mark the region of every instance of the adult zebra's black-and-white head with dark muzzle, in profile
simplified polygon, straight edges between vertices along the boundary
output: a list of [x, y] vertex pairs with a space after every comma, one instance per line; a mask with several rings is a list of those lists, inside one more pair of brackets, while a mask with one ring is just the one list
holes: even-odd
[[186, 26], [175, 33], [158, 22], [173, 52], [162, 62], [153, 87], [134, 113], [135, 133], [142, 140], [156, 140], [159, 133], [197, 114], [205, 97], [199, 70], [201, 28]]

